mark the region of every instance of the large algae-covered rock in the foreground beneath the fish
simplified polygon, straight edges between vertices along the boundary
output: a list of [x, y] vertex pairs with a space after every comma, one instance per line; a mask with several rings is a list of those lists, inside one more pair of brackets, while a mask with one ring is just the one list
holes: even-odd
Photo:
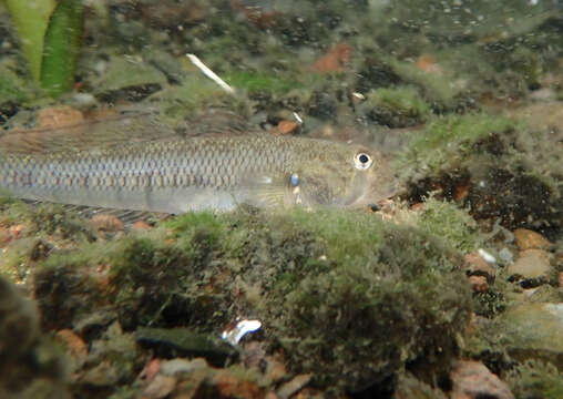
[[377, 215], [247, 208], [55, 253], [39, 268], [37, 297], [57, 328], [100, 306], [127, 330], [218, 334], [254, 316], [291, 369], [361, 390], [407, 364], [432, 370], [430, 382], [444, 372], [471, 308], [461, 265], [447, 239]]

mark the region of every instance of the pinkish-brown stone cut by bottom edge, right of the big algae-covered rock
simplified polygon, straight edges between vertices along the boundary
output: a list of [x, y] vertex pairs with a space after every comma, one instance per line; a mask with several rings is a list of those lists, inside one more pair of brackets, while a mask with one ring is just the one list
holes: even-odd
[[513, 399], [509, 387], [479, 361], [459, 361], [450, 374], [451, 399]]

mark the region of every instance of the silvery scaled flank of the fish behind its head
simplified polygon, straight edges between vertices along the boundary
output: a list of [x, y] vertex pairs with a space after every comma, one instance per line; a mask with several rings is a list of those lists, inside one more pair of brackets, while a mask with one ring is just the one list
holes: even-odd
[[[58, 200], [93, 206], [108, 203], [120, 207], [121, 204], [96, 198], [95, 195], [89, 198], [89, 194], [114, 192], [151, 196], [168, 188], [228, 191], [250, 173], [290, 171], [289, 161], [295, 153], [284, 153], [289, 146], [284, 139], [253, 135], [182, 139], [47, 156], [4, 154], [0, 186], [32, 200]], [[122, 207], [127, 207], [126, 195], [121, 197]], [[149, 204], [141, 207], [150, 208]]]

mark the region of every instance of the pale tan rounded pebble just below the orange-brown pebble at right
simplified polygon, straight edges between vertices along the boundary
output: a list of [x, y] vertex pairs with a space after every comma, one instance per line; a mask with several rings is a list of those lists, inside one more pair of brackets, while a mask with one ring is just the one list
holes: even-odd
[[551, 274], [550, 263], [545, 259], [546, 256], [542, 252], [529, 249], [509, 266], [509, 275], [514, 280], [522, 280], [526, 287], [541, 285]]

